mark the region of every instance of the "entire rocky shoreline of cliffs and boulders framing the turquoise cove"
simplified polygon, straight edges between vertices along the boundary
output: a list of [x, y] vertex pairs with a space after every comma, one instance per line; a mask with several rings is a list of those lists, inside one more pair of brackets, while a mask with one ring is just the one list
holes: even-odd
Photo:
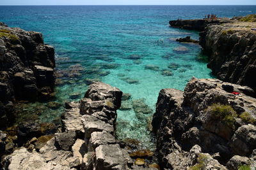
[[[202, 31], [199, 43], [210, 56], [208, 67], [220, 80], [193, 77], [184, 92], [177, 89], [159, 92], [152, 120], [156, 153], [138, 147], [136, 139], [116, 139], [116, 110], [121, 106], [123, 93], [100, 81], [90, 82], [79, 102], [65, 103], [59, 129], [33, 119], [15, 129], [6, 129], [15, 117], [15, 101], [54, 96], [55, 59], [54, 48], [44, 45], [39, 32], [0, 23], [1, 130], [6, 130], [0, 131], [3, 167], [99, 170], [255, 167], [256, 36], [246, 25], [236, 26], [237, 23], [240, 22], [227, 19], [170, 21], [174, 27]], [[190, 37], [179, 41], [197, 43]]]

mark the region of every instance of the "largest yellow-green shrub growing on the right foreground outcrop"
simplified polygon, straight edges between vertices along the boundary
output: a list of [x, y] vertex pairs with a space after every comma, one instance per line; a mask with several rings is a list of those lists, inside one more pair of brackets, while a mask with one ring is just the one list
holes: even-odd
[[220, 118], [220, 120], [228, 127], [235, 129], [235, 117], [237, 117], [236, 111], [231, 106], [224, 104], [212, 104], [207, 108], [207, 111], [211, 111], [212, 116]]

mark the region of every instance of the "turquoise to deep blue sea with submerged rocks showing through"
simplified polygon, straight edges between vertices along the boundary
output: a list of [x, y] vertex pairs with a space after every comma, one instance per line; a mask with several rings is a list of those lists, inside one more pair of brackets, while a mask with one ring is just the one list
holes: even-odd
[[256, 6], [0, 6], [2, 22], [42, 32], [56, 52], [56, 98], [51, 101], [61, 107], [53, 110], [49, 101], [20, 104], [17, 121], [38, 115], [42, 122], [60, 124], [65, 101], [79, 101], [90, 82], [100, 80], [131, 94], [117, 111], [118, 138], [136, 138], [142, 148], [154, 150], [150, 119], [159, 91], [184, 90], [192, 76], [213, 77], [199, 45], [175, 41], [198, 39], [198, 32], [168, 22], [208, 13], [243, 16], [256, 13]]

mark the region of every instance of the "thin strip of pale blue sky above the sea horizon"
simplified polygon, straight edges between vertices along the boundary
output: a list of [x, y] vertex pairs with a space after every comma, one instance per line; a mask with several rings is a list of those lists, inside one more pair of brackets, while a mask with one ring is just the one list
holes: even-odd
[[0, 5], [255, 4], [256, 0], [0, 0]]

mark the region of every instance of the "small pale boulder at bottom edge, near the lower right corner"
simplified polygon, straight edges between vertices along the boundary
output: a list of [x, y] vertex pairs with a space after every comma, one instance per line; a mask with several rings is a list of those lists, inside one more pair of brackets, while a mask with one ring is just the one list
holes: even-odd
[[241, 165], [250, 165], [250, 159], [248, 157], [240, 157], [235, 155], [232, 159], [228, 160], [227, 168], [228, 169], [238, 169]]

